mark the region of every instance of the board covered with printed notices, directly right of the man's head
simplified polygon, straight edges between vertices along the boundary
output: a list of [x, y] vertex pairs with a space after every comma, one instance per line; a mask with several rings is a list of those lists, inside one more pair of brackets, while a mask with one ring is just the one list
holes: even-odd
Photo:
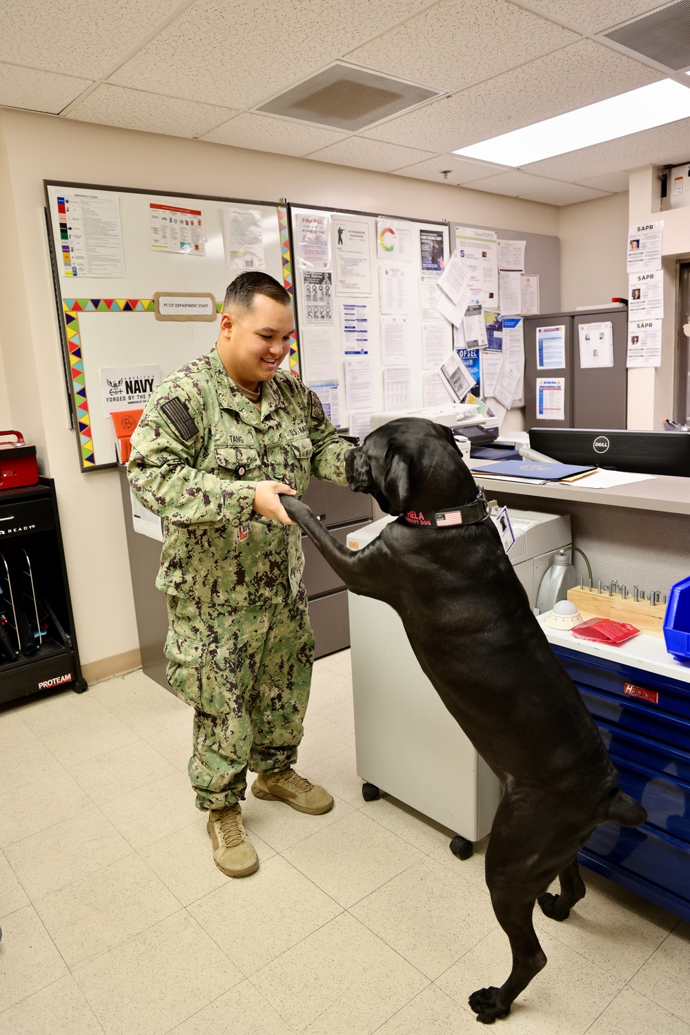
[[436, 308], [448, 224], [291, 204], [300, 376], [331, 420], [452, 402], [438, 374], [453, 349]]

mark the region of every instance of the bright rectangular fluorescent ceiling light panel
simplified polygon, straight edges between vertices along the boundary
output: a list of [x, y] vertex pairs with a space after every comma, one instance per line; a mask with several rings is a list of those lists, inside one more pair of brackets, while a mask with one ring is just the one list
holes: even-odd
[[481, 144], [458, 148], [453, 154], [502, 166], [526, 166], [688, 117], [690, 88], [672, 79], [662, 79]]

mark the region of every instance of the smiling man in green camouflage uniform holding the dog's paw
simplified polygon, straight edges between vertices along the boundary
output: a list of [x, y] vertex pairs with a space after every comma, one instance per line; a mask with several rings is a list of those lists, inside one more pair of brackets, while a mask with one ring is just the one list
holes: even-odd
[[318, 396], [278, 369], [293, 329], [288, 292], [241, 273], [215, 348], [166, 378], [131, 438], [129, 483], [163, 519], [156, 586], [168, 594], [168, 679], [194, 708], [189, 777], [231, 877], [259, 866], [239, 805], [247, 767], [258, 798], [310, 815], [333, 805], [292, 768], [313, 635], [301, 532], [280, 495], [301, 496], [310, 475], [344, 485], [350, 447]]

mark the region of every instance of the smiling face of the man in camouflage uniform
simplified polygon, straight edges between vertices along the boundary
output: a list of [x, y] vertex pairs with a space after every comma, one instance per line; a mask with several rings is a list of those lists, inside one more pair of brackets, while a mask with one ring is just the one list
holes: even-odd
[[249, 308], [235, 306], [222, 314], [216, 349], [233, 381], [258, 391], [275, 376], [294, 330], [292, 305], [257, 294]]

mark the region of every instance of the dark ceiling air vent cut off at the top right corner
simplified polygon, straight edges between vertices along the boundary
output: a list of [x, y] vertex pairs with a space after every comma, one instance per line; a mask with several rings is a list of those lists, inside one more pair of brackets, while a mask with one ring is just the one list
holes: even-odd
[[673, 71], [689, 68], [690, 0], [676, 0], [603, 36]]

